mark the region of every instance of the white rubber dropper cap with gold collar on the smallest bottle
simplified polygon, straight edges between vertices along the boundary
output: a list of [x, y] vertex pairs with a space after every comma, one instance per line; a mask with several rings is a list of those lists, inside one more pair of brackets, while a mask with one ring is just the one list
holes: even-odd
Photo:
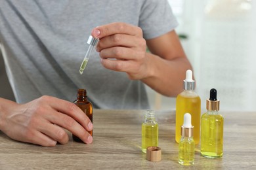
[[184, 122], [181, 126], [181, 136], [182, 137], [193, 137], [193, 128], [191, 124], [191, 115], [189, 113], [184, 114]]

